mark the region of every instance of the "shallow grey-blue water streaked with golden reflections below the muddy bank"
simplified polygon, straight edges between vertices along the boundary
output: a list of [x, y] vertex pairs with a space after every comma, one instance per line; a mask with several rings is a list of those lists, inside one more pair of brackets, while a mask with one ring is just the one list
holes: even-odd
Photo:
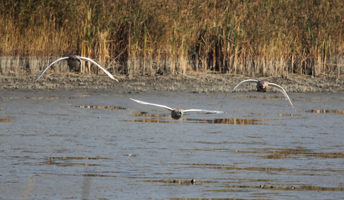
[[2, 91], [0, 199], [343, 199], [343, 94], [224, 95]]

